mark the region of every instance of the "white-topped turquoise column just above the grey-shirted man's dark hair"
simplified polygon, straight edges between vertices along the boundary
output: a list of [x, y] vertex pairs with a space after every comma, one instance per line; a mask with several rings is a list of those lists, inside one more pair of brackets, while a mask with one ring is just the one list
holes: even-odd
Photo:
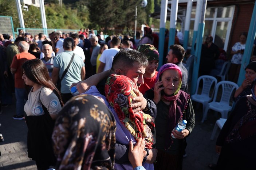
[[168, 47], [174, 44], [179, 0], [172, 0]]

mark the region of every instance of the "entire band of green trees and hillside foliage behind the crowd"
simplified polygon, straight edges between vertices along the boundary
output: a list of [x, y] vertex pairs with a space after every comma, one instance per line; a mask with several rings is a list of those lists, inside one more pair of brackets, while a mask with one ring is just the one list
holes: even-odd
[[[154, 12], [154, 4], [161, 0], [147, 0], [147, 7], [141, 7], [140, 0], [44, 0], [47, 28], [80, 29], [93, 28], [113, 33], [114, 29], [124, 34], [134, 34], [135, 7], [137, 12], [137, 30], [141, 24], [151, 25], [149, 14]], [[15, 0], [0, 0], [0, 15], [12, 16], [14, 29], [20, 27]], [[26, 28], [42, 28], [40, 8], [29, 6], [22, 11]], [[155, 20], [154, 20], [155, 21]], [[157, 24], [155, 24], [156, 27]]]

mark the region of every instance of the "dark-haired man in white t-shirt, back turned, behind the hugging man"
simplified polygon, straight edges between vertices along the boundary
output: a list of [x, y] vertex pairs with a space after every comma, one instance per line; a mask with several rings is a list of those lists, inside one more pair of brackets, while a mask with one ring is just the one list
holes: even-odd
[[106, 70], [111, 69], [113, 58], [115, 54], [117, 54], [120, 49], [118, 48], [120, 46], [121, 40], [119, 37], [113, 37], [110, 43], [110, 49], [106, 49], [101, 54], [101, 57], [99, 58], [100, 64], [98, 68], [98, 72], [103, 72]]

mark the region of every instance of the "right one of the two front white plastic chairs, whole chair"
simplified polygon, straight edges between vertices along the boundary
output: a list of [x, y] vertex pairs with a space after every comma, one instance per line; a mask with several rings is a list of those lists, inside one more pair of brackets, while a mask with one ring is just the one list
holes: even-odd
[[[222, 87], [221, 99], [220, 101], [216, 101], [217, 94], [220, 87]], [[231, 111], [234, 104], [234, 102], [232, 103], [232, 105], [229, 104], [231, 95], [233, 91], [237, 90], [237, 88], [238, 88], [238, 85], [234, 82], [229, 82], [229, 81], [218, 82], [215, 88], [213, 101], [206, 105], [201, 122], [203, 123], [204, 120], [206, 119], [207, 112], [209, 109], [220, 112], [221, 117], [227, 119], [228, 112]]]

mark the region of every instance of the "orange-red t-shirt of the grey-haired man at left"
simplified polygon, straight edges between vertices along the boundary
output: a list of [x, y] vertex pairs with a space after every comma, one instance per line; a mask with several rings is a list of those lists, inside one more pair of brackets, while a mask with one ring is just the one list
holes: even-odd
[[24, 80], [21, 78], [23, 75], [23, 71], [21, 70], [22, 64], [29, 60], [35, 59], [36, 57], [30, 53], [22, 52], [20, 54], [16, 54], [12, 59], [11, 68], [16, 69], [14, 74], [14, 86], [15, 88], [25, 88]]

